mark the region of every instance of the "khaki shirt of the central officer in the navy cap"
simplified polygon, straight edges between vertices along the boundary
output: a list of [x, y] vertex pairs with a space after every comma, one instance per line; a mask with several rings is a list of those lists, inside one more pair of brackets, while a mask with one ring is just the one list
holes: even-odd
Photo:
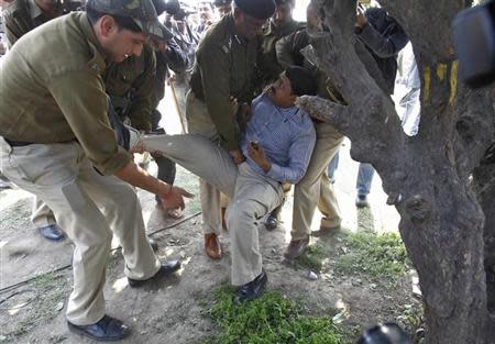
[[195, 96], [205, 101], [208, 113], [229, 151], [239, 148], [240, 135], [230, 97], [251, 102], [256, 68], [256, 40], [235, 33], [232, 13], [224, 15], [202, 36], [190, 79]]

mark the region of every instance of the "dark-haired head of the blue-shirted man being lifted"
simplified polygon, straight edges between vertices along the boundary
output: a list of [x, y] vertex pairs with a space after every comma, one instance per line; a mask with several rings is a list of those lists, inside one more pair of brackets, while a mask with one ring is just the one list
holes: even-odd
[[315, 76], [307, 69], [290, 66], [268, 88], [268, 97], [280, 108], [294, 107], [297, 97], [316, 96]]

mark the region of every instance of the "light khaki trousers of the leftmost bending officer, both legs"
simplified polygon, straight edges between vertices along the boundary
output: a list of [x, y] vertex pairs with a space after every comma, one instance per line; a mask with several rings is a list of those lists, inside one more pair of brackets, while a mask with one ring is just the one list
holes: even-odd
[[125, 259], [125, 276], [147, 279], [160, 269], [146, 241], [141, 206], [133, 188], [99, 175], [76, 142], [11, 147], [0, 136], [2, 173], [42, 198], [74, 242], [74, 290], [67, 320], [87, 325], [105, 315], [105, 270], [113, 234]]

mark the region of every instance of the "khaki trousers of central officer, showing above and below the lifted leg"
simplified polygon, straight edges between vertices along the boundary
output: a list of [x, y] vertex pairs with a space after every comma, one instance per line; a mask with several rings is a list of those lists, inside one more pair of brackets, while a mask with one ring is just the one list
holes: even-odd
[[[187, 95], [186, 118], [189, 133], [201, 135], [211, 142], [218, 142], [218, 132], [208, 113], [207, 104], [197, 99], [193, 91]], [[226, 151], [226, 153], [228, 152]], [[202, 211], [202, 232], [220, 235], [222, 229], [220, 192], [204, 178], [199, 179], [199, 200]]]

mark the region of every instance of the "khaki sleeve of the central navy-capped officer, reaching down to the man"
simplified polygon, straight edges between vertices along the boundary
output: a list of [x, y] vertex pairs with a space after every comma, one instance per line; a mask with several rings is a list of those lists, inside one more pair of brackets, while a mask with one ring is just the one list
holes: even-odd
[[198, 56], [202, 90], [208, 113], [228, 151], [239, 148], [235, 115], [230, 104], [230, 53], [221, 46], [210, 45]]

